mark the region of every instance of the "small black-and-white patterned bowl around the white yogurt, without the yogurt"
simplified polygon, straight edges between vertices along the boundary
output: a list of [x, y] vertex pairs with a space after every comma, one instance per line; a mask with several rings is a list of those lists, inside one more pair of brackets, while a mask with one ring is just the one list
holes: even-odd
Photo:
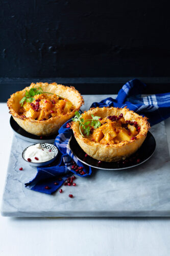
[[[27, 149], [28, 149], [30, 146], [33, 146], [33, 145], [36, 145], [36, 144], [41, 144], [41, 147], [42, 147], [42, 148], [46, 148], [47, 150], [51, 150], [51, 151], [54, 153], [54, 158], [52, 158], [51, 160], [45, 161], [45, 162], [40, 162], [40, 163], [29, 162], [29, 161], [25, 158], [25, 153], [26, 153]], [[22, 152], [22, 158], [23, 158], [23, 160], [25, 160], [26, 162], [28, 162], [30, 165], [35, 166], [35, 167], [38, 167], [38, 166], [45, 166], [45, 165], [48, 165], [48, 164], [52, 163], [52, 162], [57, 158], [57, 155], [58, 155], [58, 148], [57, 148], [55, 145], [50, 144], [50, 143], [36, 143], [36, 144], [33, 144], [33, 145], [30, 145], [30, 146], [26, 147], [25, 150]]]

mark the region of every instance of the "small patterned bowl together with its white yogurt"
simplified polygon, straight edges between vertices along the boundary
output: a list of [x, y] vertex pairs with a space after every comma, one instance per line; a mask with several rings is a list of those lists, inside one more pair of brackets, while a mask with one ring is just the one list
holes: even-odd
[[58, 148], [50, 143], [37, 143], [25, 148], [22, 158], [33, 166], [52, 163], [58, 155]]

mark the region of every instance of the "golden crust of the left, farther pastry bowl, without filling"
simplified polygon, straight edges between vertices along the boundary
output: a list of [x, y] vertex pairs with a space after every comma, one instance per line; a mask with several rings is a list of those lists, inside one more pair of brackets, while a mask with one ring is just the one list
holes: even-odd
[[[74, 104], [75, 109], [67, 114], [61, 114], [59, 116], [52, 117], [50, 119], [39, 121], [32, 118], [21, 117], [18, 112], [20, 109], [19, 101], [25, 96], [26, 90], [29, 91], [31, 88], [41, 87], [44, 92], [50, 92], [53, 94], [58, 94], [63, 98], [66, 98]], [[24, 130], [31, 134], [38, 136], [48, 136], [55, 134], [59, 128], [75, 115], [75, 111], [79, 111], [81, 105], [84, 104], [83, 97], [74, 87], [63, 86], [62, 84], [53, 83], [31, 83], [30, 87], [26, 87], [22, 91], [16, 92], [11, 95], [8, 99], [7, 105], [10, 110], [10, 114], [13, 116], [14, 120], [21, 126]]]

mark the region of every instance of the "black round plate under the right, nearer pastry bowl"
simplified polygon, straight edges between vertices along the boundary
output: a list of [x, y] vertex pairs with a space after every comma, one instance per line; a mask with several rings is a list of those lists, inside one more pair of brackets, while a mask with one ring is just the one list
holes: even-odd
[[156, 147], [155, 138], [150, 132], [148, 132], [147, 138], [145, 138], [143, 144], [138, 149], [138, 151], [135, 154], [131, 155], [126, 160], [119, 161], [119, 162], [101, 162], [99, 164], [98, 160], [90, 156], [85, 157], [86, 153], [79, 146], [74, 135], [72, 135], [72, 138], [70, 140], [70, 148], [72, 152], [82, 163], [87, 164], [94, 168], [105, 169], [105, 170], [126, 169], [126, 168], [137, 166], [141, 163], [144, 163], [154, 154], [155, 147]]

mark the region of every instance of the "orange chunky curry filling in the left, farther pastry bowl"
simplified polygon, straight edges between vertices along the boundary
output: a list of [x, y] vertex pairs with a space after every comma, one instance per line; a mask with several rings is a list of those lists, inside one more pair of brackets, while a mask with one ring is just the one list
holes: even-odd
[[61, 98], [56, 94], [39, 94], [34, 100], [25, 102], [19, 110], [21, 117], [45, 121], [52, 117], [65, 115], [74, 111], [75, 106], [68, 99]]

